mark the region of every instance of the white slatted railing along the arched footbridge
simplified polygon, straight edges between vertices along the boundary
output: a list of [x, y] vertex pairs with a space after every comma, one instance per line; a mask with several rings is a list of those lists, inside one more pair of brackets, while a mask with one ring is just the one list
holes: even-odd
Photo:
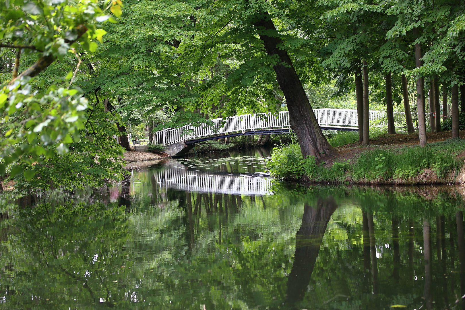
[[[358, 126], [357, 110], [347, 109], [314, 109], [320, 125]], [[381, 120], [385, 118], [383, 111], [370, 111], [369, 119]], [[154, 144], [170, 145], [181, 141], [198, 139], [201, 137], [234, 132], [246, 132], [257, 129], [290, 128], [289, 112], [278, 114], [257, 113], [230, 116], [225, 119], [211, 119], [213, 126], [200, 124], [198, 126], [185, 125], [179, 128], [166, 128], [155, 132]]]

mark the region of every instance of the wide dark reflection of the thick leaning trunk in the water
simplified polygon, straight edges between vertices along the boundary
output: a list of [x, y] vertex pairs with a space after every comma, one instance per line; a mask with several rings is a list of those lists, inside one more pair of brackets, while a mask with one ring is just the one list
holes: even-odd
[[319, 199], [316, 208], [304, 206], [302, 224], [295, 237], [294, 264], [287, 278], [286, 303], [290, 305], [301, 301], [307, 291], [326, 225], [336, 207], [331, 196]]

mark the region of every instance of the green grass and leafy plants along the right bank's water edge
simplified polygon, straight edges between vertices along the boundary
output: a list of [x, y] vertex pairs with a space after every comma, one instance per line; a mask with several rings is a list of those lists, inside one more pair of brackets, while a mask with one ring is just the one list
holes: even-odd
[[458, 181], [465, 139], [420, 146], [383, 146], [362, 150], [350, 160], [331, 164], [303, 158], [299, 145], [275, 148], [267, 163], [271, 173], [288, 180], [314, 183], [448, 184]]

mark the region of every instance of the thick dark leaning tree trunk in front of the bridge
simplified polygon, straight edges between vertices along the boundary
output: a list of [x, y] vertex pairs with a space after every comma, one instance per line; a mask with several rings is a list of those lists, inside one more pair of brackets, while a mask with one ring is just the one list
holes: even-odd
[[319, 161], [323, 157], [335, 154], [336, 150], [328, 143], [321, 131], [289, 55], [285, 49], [278, 47], [281, 44], [281, 39], [271, 16], [268, 13], [261, 14], [254, 26], [259, 32], [266, 53], [278, 55], [281, 60], [273, 66], [273, 69], [279, 87], [286, 97], [289, 122], [299, 139], [302, 155], [304, 158], [308, 155], [315, 156], [316, 160]]

